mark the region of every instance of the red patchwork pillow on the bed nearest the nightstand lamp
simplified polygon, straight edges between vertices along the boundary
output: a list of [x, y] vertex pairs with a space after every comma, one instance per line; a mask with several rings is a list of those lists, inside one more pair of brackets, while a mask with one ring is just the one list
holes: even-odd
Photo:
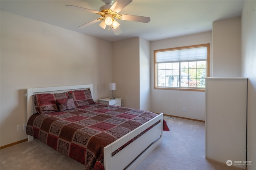
[[68, 97], [73, 98], [76, 107], [94, 104], [90, 89], [88, 90], [74, 90], [68, 92]]

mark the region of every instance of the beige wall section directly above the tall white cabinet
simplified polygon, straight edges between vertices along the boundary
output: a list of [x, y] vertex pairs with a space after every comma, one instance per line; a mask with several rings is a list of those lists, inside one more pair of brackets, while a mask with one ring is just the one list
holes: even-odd
[[212, 23], [212, 76], [240, 77], [241, 18]]

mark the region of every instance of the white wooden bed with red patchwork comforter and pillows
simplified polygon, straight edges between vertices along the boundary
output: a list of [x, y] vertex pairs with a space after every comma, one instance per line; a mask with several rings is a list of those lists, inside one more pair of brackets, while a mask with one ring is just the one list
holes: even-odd
[[99, 104], [92, 92], [92, 84], [29, 88], [28, 141], [39, 139], [88, 170], [136, 168], [163, 140], [163, 114]]

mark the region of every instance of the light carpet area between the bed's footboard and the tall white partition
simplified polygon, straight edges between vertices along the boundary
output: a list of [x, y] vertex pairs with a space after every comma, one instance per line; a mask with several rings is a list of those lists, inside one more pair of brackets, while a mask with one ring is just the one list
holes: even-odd
[[241, 170], [206, 159], [204, 123], [186, 119], [168, 119], [170, 131], [136, 170]]

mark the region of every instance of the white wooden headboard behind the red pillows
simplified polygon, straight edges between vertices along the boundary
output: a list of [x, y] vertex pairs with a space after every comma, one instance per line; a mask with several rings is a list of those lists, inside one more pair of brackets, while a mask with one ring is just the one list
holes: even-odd
[[27, 91], [27, 114], [28, 119], [34, 113], [36, 113], [34, 104], [33, 104], [33, 95], [34, 94], [42, 94], [42, 93], [62, 93], [68, 92], [70, 90], [85, 90], [90, 89], [93, 97], [93, 89], [92, 84], [85, 85], [76, 85], [76, 86], [58, 86], [58, 87], [44, 87], [44, 88], [28, 88]]

